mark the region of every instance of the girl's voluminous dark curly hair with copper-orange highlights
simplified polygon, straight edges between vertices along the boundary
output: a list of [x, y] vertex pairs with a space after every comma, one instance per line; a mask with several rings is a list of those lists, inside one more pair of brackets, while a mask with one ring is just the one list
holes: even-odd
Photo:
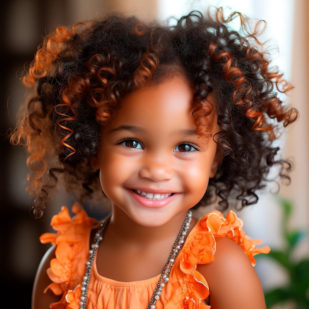
[[[230, 29], [237, 17], [238, 32]], [[274, 142], [298, 112], [279, 98], [293, 87], [270, 66], [258, 39], [263, 23], [239, 12], [225, 17], [220, 7], [205, 15], [193, 11], [174, 24], [119, 15], [47, 35], [23, 77], [33, 91], [10, 135], [28, 152], [33, 215], [43, 215], [60, 179], [80, 202], [94, 197], [99, 176], [90, 158], [99, 147], [99, 126], [113, 117], [123, 95], [171, 71], [181, 72], [195, 91], [197, 133], [206, 134], [213, 108], [220, 127], [214, 138], [221, 164], [195, 207], [216, 197], [223, 209], [232, 200], [242, 207], [257, 202], [268, 181], [289, 182], [292, 162], [278, 157]], [[205, 100], [211, 93], [215, 107]], [[273, 166], [278, 174], [268, 179]]]

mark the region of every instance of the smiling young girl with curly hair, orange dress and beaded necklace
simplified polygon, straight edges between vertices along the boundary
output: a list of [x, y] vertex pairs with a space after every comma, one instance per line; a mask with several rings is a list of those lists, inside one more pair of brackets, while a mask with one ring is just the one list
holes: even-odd
[[[175, 25], [110, 16], [45, 37], [11, 143], [28, 151], [36, 218], [58, 186], [78, 203], [40, 238], [53, 246], [33, 309], [266, 308], [253, 256], [270, 249], [220, 212], [257, 202], [271, 167], [289, 180], [274, 142], [297, 111], [278, 97], [292, 87], [258, 26], [218, 8]], [[109, 215], [88, 217], [82, 205], [106, 197]]]

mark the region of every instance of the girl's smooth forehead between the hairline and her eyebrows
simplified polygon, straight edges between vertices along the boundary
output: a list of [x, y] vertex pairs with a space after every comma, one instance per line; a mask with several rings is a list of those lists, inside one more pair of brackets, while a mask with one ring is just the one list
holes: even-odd
[[[203, 114], [209, 115], [196, 127], [193, 119], [194, 90], [183, 75], [173, 75], [161, 82], [148, 82], [136, 91], [123, 96], [112, 119], [101, 129], [101, 134], [119, 132], [119, 128], [136, 127], [156, 135], [174, 135], [177, 132], [196, 132], [198, 135], [213, 135], [218, 132], [214, 99], [205, 100]], [[205, 107], [207, 107], [205, 109]], [[207, 112], [207, 114], [208, 114]]]

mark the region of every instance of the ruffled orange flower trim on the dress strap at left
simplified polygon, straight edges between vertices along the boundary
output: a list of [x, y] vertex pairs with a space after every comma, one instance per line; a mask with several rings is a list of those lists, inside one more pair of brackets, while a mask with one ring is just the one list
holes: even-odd
[[50, 304], [52, 309], [79, 309], [80, 284], [86, 271], [90, 232], [98, 224], [78, 204], [72, 207], [72, 212], [76, 214], [73, 218], [68, 208], [63, 206], [50, 222], [58, 232], [44, 233], [39, 237], [41, 243], [57, 245], [56, 258], [51, 260], [47, 270], [53, 282], [44, 291], [50, 289], [55, 295], [62, 295], [59, 302]]

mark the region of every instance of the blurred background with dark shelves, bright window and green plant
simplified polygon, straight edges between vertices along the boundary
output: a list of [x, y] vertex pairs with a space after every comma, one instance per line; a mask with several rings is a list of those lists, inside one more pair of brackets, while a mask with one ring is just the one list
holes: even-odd
[[[291, 267], [301, 265], [297, 271], [305, 276], [302, 277], [305, 283], [296, 290], [304, 289], [309, 295], [306, 285], [309, 282], [306, 262], [309, 259], [308, 0], [10, 0], [2, 3], [0, 10], [0, 274], [5, 292], [16, 295], [12, 301], [16, 306], [30, 309], [35, 272], [48, 248], [39, 243], [39, 235], [49, 231], [51, 216], [62, 205], [72, 203], [70, 198], [59, 194], [51, 201], [43, 222], [29, 214], [24, 183], [26, 155], [23, 149], [13, 148], [4, 138], [6, 130], [14, 126], [17, 109], [24, 101], [20, 81], [24, 64], [33, 59], [42, 37], [59, 25], [98, 19], [110, 11], [124, 11], [144, 18], [180, 17], [193, 9], [205, 11], [209, 4], [229, 6], [231, 11], [266, 20], [265, 39], [270, 39], [270, 45], [278, 46], [273, 50], [273, 64], [278, 65], [295, 86], [289, 100], [301, 116], [280, 141], [285, 154], [295, 161], [292, 184], [282, 187], [278, 196], [263, 195], [257, 205], [238, 215], [244, 221], [247, 234], [263, 239], [264, 244], [277, 253], [274, 258], [258, 259], [256, 269], [265, 291], [289, 287], [295, 281], [291, 279]], [[293, 296], [287, 295], [289, 292], [281, 290], [281, 299], [290, 300], [271, 308], [301, 308]]]

